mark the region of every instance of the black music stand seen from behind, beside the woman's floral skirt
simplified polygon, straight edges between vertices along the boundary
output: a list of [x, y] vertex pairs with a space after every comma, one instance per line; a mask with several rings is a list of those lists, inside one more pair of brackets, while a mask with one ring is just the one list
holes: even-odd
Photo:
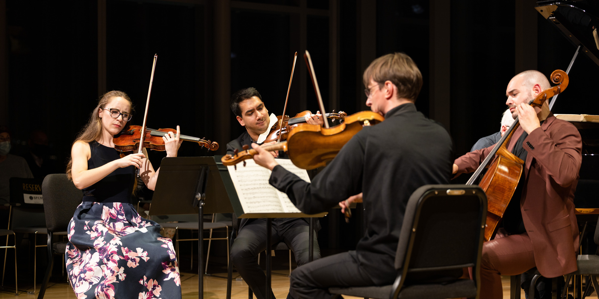
[[[220, 161], [220, 159], [219, 159]], [[204, 212], [231, 213], [233, 208], [213, 157], [166, 157], [148, 215], [198, 213], [198, 298], [204, 298]], [[207, 205], [205, 205], [207, 203]], [[205, 207], [204, 207], [205, 205]], [[204, 209], [206, 209], [204, 211]]]

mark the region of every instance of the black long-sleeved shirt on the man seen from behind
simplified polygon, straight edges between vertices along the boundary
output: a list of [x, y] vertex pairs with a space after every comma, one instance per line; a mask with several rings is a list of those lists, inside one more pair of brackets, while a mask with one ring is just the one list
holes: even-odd
[[353, 136], [311, 184], [282, 166], [274, 167], [270, 184], [304, 213], [323, 212], [363, 192], [368, 227], [356, 246], [361, 264], [395, 271], [395, 251], [410, 195], [422, 185], [448, 184], [452, 164], [447, 131], [416, 111], [413, 103], [406, 103], [391, 109], [382, 123]]

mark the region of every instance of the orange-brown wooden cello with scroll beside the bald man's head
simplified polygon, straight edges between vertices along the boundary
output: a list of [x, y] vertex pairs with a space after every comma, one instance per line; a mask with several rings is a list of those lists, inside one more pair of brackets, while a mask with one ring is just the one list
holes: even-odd
[[[561, 69], [553, 71], [550, 79], [558, 85], [541, 91], [539, 95], [528, 103], [529, 105], [542, 106], [547, 99], [564, 91], [569, 83], [568, 75]], [[507, 150], [507, 144], [519, 124], [516, 117], [512, 126], [504, 133], [500, 141], [495, 144], [495, 147], [489, 152], [485, 160], [480, 163], [478, 169], [476, 169], [466, 183], [466, 185], [475, 184], [476, 179], [479, 178], [485, 167], [492, 161], [491, 166], [489, 166], [489, 169], [479, 182], [479, 186], [485, 191], [488, 199], [485, 225], [485, 240], [487, 241], [491, 240], [497, 232], [497, 225], [506, 212], [507, 205], [510, 203], [510, 199], [512, 199], [522, 176], [522, 170], [524, 170], [524, 161]]]

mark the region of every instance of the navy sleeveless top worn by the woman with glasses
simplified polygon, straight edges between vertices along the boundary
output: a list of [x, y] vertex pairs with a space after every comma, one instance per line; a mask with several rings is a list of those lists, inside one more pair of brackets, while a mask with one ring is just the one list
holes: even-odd
[[[110, 161], [120, 159], [119, 152], [96, 141], [89, 143], [92, 151], [87, 160], [87, 169], [94, 169]], [[135, 179], [135, 166], [117, 168], [95, 184], [83, 188], [84, 202], [131, 203]]]

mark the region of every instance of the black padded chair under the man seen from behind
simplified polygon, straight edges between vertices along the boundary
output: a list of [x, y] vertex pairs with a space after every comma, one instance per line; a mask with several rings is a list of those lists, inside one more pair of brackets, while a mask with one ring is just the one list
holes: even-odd
[[[472, 185], [425, 185], [406, 206], [393, 285], [329, 288], [337, 297], [479, 298], [486, 196]], [[460, 279], [473, 267], [474, 279]]]

